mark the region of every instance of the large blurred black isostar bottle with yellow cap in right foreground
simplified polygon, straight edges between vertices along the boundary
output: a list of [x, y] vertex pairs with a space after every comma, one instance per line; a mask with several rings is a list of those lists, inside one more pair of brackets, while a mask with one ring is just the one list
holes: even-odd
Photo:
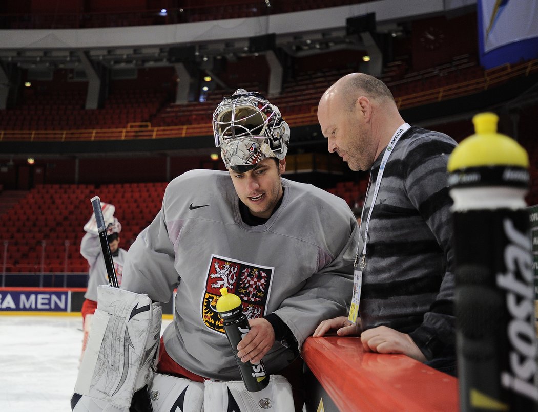
[[454, 199], [456, 343], [461, 411], [535, 411], [534, 273], [525, 194], [528, 156], [473, 118], [449, 158]]

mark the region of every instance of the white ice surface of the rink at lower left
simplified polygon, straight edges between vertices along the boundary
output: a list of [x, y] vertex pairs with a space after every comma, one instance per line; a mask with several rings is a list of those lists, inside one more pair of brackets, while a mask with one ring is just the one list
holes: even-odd
[[0, 315], [0, 412], [70, 412], [81, 348], [81, 316]]

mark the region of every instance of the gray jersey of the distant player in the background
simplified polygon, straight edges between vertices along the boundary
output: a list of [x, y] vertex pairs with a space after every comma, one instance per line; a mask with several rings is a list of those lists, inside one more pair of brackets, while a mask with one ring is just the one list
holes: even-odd
[[[84, 256], [90, 265], [88, 289], [84, 294], [84, 298], [97, 301], [97, 286], [108, 285], [109, 283], [107, 266], [104, 264], [99, 236], [86, 233], [80, 242], [80, 254]], [[123, 262], [126, 255], [127, 252], [119, 248], [118, 256], [112, 257], [119, 285], [122, 283]]]

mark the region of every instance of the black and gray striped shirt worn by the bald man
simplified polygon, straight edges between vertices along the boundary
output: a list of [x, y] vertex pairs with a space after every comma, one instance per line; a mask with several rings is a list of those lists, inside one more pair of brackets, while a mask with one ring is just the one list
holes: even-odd
[[[409, 334], [428, 360], [454, 352], [454, 264], [447, 162], [456, 142], [411, 127], [385, 165], [368, 230], [359, 315], [363, 328]], [[372, 165], [365, 221], [379, 173]], [[360, 256], [359, 256], [360, 257]]]

